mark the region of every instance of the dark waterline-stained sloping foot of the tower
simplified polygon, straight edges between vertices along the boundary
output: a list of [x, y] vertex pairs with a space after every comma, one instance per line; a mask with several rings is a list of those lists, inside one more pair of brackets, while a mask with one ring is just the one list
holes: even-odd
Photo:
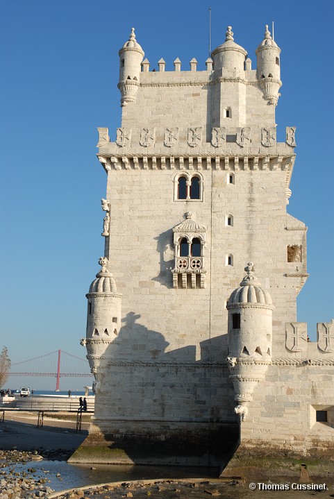
[[114, 421], [114, 431], [108, 432], [101, 431], [99, 421], [94, 421], [69, 462], [208, 466], [217, 468], [218, 473], [231, 459], [239, 438], [233, 423], [119, 423], [117, 428]]

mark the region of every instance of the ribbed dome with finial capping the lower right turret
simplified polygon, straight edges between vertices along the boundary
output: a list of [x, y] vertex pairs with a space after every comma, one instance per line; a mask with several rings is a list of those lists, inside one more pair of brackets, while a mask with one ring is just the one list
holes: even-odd
[[262, 289], [260, 282], [253, 274], [253, 263], [249, 262], [244, 270], [247, 271], [247, 276], [244, 276], [242, 282], [240, 282], [240, 287], [232, 292], [228, 300], [227, 308], [235, 303], [262, 303], [263, 305], [272, 305], [272, 297], [269, 292]]

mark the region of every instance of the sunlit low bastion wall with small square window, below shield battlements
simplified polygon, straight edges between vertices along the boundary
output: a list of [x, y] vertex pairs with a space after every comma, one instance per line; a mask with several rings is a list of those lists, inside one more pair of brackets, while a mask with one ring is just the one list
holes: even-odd
[[[269, 366], [241, 424], [241, 440], [254, 454], [328, 455], [334, 448], [333, 366]], [[327, 423], [315, 411], [327, 410]]]

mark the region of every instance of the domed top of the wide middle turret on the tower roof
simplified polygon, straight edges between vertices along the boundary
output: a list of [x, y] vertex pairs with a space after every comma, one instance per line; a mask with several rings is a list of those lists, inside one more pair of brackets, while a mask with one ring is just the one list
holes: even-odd
[[212, 51], [211, 57], [215, 71], [224, 68], [223, 76], [242, 76], [247, 51], [234, 42], [232, 26], [227, 27], [225, 42]]

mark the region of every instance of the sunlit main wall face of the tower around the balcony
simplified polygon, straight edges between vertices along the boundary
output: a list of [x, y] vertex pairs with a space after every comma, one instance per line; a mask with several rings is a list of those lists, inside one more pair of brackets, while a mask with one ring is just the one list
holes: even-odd
[[[222, 361], [225, 302], [249, 260], [256, 262], [257, 276], [275, 303], [273, 355], [285, 353], [285, 322], [296, 320], [293, 279], [285, 277], [285, 173], [237, 171], [233, 185], [227, 183], [226, 171], [202, 171], [203, 202], [173, 201], [174, 175], [169, 170], [108, 174], [112, 234], [106, 256], [123, 294], [122, 357], [151, 359], [149, 350], [162, 350], [170, 357]], [[207, 228], [206, 289], [172, 288], [172, 228], [189, 210]], [[228, 213], [233, 226], [226, 226]], [[227, 254], [233, 255], [233, 267], [226, 266]], [[138, 328], [162, 335], [168, 345], [161, 348], [158, 341], [159, 347], [151, 348], [147, 340], [137, 341]], [[218, 336], [211, 353], [200, 348], [201, 342]]]

